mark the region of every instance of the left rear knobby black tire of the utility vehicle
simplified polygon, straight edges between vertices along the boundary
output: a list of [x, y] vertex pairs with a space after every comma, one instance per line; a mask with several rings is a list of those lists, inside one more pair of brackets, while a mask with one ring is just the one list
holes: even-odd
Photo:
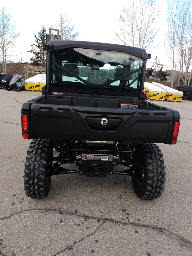
[[25, 162], [24, 190], [29, 197], [46, 197], [51, 183], [47, 176], [48, 160], [53, 156], [52, 142], [48, 139], [32, 140]]

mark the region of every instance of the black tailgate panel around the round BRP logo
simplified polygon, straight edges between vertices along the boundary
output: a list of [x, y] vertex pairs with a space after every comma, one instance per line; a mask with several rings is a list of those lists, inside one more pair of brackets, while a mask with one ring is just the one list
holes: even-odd
[[[170, 110], [31, 105], [31, 138], [170, 143]], [[107, 125], [101, 119], [107, 118]]]

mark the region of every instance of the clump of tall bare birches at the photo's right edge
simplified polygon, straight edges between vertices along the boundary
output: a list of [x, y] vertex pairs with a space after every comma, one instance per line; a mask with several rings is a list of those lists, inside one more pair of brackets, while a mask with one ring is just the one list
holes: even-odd
[[190, 0], [167, 0], [167, 31], [165, 49], [172, 60], [171, 87], [173, 74], [178, 71], [177, 86], [187, 85], [192, 65], [192, 11]]

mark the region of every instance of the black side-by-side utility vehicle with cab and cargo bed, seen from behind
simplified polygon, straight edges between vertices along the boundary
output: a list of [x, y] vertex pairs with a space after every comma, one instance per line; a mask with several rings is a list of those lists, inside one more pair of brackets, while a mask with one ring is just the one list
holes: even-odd
[[[26, 195], [45, 197], [52, 175], [78, 173], [128, 175], [139, 198], [160, 197], [165, 166], [153, 143], [177, 142], [180, 115], [145, 101], [150, 54], [82, 41], [49, 41], [44, 50], [43, 94], [22, 106], [22, 136], [32, 139], [25, 163]], [[67, 169], [67, 163], [76, 163], [76, 170]]]

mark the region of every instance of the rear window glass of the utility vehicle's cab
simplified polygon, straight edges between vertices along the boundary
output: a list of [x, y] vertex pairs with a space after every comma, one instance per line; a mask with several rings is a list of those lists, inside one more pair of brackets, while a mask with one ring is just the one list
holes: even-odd
[[143, 60], [124, 52], [70, 48], [51, 54], [52, 85], [139, 90]]

